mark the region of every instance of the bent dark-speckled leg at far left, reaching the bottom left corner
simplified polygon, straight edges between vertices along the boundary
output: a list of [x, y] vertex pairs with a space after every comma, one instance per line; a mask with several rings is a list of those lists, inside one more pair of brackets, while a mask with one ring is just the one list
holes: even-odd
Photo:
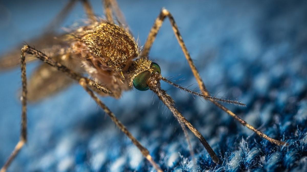
[[53, 59], [49, 58], [42, 52], [25, 45], [21, 49], [21, 82], [22, 82], [22, 92], [21, 92], [21, 136], [20, 141], [16, 144], [12, 154], [10, 155], [9, 159], [6, 161], [4, 166], [1, 168], [0, 172], [5, 172], [6, 169], [9, 167], [10, 163], [14, 160], [18, 152], [21, 150], [23, 145], [27, 142], [27, 77], [26, 77], [26, 69], [25, 69], [25, 55], [29, 54], [32, 55], [41, 61], [55, 67], [56, 69], [66, 73], [69, 77], [74, 80], [83, 80], [87, 86], [92, 88], [99, 89], [100, 91], [112, 95], [112, 92], [107, 88], [103, 87], [102, 85], [96, 83], [93, 80], [80, 76], [78, 73], [73, 72], [72, 70], [68, 69], [66, 66], [61, 65], [60, 63], [54, 61]]

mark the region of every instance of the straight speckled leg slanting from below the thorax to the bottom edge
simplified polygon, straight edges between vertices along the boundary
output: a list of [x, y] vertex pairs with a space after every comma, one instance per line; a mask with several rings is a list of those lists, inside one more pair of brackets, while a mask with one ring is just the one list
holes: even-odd
[[94, 99], [95, 102], [105, 111], [105, 113], [107, 113], [110, 116], [111, 120], [119, 127], [119, 129], [121, 129], [122, 132], [125, 133], [127, 137], [129, 137], [132, 143], [138, 147], [142, 155], [153, 165], [153, 167], [158, 172], [162, 172], [161, 168], [150, 156], [149, 151], [144, 146], [142, 146], [142, 144], [134, 136], [132, 136], [132, 134], [128, 131], [128, 129], [115, 117], [113, 112], [111, 112], [111, 110], [94, 94], [94, 92], [90, 88], [88, 88], [86, 80], [84, 80], [84, 78], [81, 78], [79, 83], [85, 89], [85, 91], [92, 97], [92, 99]]

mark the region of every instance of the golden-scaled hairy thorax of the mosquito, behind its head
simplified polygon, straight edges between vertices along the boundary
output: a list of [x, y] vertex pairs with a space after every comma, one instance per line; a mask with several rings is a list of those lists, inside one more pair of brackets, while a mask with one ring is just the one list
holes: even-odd
[[119, 98], [131, 87], [127, 68], [139, 53], [134, 38], [118, 25], [95, 22], [70, 35], [76, 58], [82, 59], [87, 73]]

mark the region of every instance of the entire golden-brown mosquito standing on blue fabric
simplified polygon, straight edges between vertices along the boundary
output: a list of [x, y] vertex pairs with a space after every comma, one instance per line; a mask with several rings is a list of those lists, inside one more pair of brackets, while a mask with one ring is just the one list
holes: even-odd
[[[1, 59], [0, 69], [14, 67], [17, 63], [21, 63], [22, 110], [20, 140], [16, 144], [6, 163], [2, 166], [0, 172], [5, 172], [7, 170], [10, 163], [27, 142], [27, 100], [37, 101], [42, 99], [52, 93], [64, 89], [67, 85], [73, 83], [73, 81], [77, 81], [84, 88], [91, 98], [95, 100], [99, 107], [104, 110], [104, 112], [132, 141], [132, 143], [141, 151], [142, 155], [158, 172], [162, 172], [162, 170], [154, 161], [149, 151], [134, 136], [132, 136], [111, 110], [98, 98], [98, 95], [119, 98], [123, 91], [130, 90], [133, 87], [140, 91], [151, 90], [159, 97], [161, 102], [165, 104], [180, 123], [188, 141], [191, 155], [193, 152], [185, 127], [188, 127], [188, 129], [190, 129], [200, 140], [214, 163], [219, 162], [218, 156], [200, 132], [177, 110], [172, 97], [161, 88], [160, 81], [164, 81], [176, 88], [212, 102], [231, 117], [239, 121], [242, 125], [251, 129], [260, 137], [270, 141], [271, 143], [277, 145], [286, 144], [283, 141], [275, 140], [255, 129], [255, 127], [247, 124], [243, 119], [220, 104], [224, 102], [244, 106], [243, 103], [219, 99], [212, 97], [209, 94], [195, 64], [192, 61], [192, 58], [190, 57], [177, 24], [172, 14], [167, 9], [163, 8], [154, 21], [153, 27], [151, 28], [142, 49], [138, 46], [137, 41], [135, 41], [132, 36], [129, 27], [126, 24], [125, 17], [123, 16], [116, 0], [103, 1], [105, 13], [105, 18], [103, 19], [94, 15], [87, 0], [80, 0], [87, 14], [88, 23], [85, 26], [80, 26], [79, 28], [72, 30], [69, 34], [60, 35], [54, 39], [55, 28], [64, 20], [65, 16], [67, 16], [76, 1], [77, 0], [70, 0], [46, 28], [45, 35], [34, 41], [42, 50], [44, 50], [44, 52], [47, 53], [40, 51], [40, 48], [24, 45], [21, 48], [21, 53], [20, 51], [12, 52], [10, 55], [6, 56], [6, 58]], [[163, 77], [159, 65], [152, 62], [148, 57], [150, 48], [162, 23], [165, 21], [165, 18], [168, 18], [170, 21], [177, 41], [188, 61], [194, 77], [197, 80], [200, 92], [189, 90], [173, 83], [166, 77]], [[34, 61], [36, 59], [39, 59], [44, 63], [34, 72], [29, 80], [29, 87], [27, 87], [26, 62]], [[85, 74], [90, 77], [85, 77]]]

